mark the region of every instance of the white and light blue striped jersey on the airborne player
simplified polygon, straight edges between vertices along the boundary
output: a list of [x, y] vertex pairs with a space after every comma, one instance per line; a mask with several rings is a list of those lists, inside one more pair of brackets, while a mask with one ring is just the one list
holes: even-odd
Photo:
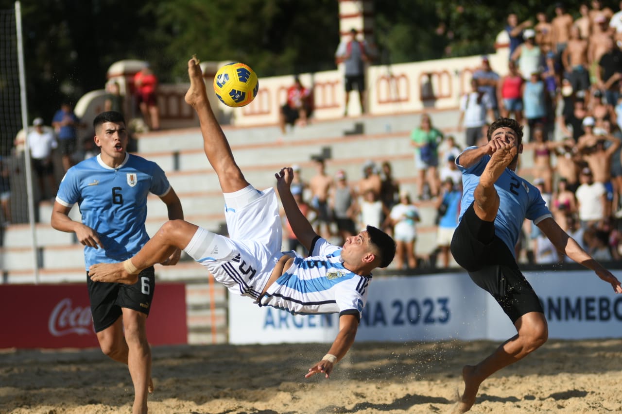
[[371, 275], [364, 277], [343, 267], [341, 247], [325, 239], [316, 239], [310, 254], [306, 258], [296, 254], [294, 264], [272, 283], [260, 304], [294, 315], [339, 313], [360, 319]]

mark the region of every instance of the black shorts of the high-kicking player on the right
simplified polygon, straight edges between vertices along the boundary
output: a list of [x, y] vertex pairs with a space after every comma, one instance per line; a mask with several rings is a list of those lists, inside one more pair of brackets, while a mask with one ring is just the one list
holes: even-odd
[[472, 203], [453, 233], [451, 249], [456, 262], [476, 285], [493, 295], [512, 323], [529, 312], [544, 313], [514, 255], [494, 234], [494, 223], [480, 219]]

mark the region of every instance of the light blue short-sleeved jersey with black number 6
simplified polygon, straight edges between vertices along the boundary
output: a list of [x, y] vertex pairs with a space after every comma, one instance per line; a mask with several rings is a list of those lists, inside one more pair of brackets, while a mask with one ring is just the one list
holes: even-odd
[[108, 167], [101, 155], [69, 168], [56, 201], [66, 207], [78, 203], [82, 223], [94, 229], [103, 249], [85, 246], [86, 270], [91, 264], [129, 259], [149, 241], [145, 229], [147, 195], [165, 196], [170, 184], [155, 162], [126, 154], [118, 168]]

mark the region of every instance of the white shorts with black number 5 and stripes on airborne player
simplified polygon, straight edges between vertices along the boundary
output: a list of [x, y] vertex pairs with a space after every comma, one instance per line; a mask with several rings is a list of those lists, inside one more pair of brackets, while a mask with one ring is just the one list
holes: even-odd
[[[244, 191], [238, 200], [232, 195]], [[246, 198], [240, 203], [240, 199]], [[205, 266], [232, 293], [257, 299], [274, 265], [282, 256], [282, 224], [274, 190], [252, 186], [225, 194], [225, 218], [230, 237], [198, 228], [183, 249]]]

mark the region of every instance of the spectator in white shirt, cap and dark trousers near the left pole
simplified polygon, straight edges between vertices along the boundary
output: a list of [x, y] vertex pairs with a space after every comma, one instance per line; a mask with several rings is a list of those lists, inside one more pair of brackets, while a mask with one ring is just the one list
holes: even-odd
[[52, 129], [44, 127], [42, 118], [32, 121], [34, 129], [28, 133], [27, 145], [32, 159], [32, 168], [39, 185], [39, 200], [54, 198], [57, 183], [54, 176], [53, 150], [58, 147]]

